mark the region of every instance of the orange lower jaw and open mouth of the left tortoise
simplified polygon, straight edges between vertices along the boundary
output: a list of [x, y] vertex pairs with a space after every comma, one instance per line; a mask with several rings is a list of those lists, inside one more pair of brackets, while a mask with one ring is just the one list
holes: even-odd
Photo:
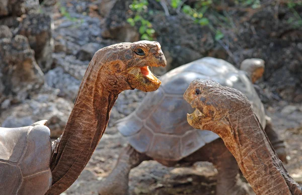
[[155, 91], [162, 83], [148, 67], [134, 68], [129, 73], [132, 76], [130, 86], [144, 92]]

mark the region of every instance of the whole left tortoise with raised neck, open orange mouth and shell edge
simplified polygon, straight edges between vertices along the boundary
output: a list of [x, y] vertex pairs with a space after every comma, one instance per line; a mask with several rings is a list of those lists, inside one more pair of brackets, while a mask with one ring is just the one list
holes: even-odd
[[148, 66], [165, 65], [158, 42], [118, 43], [97, 51], [64, 132], [52, 146], [46, 120], [0, 128], [0, 194], [50, 195], [66, 190], [91, 158], [118, 94], [134, 88], [157, 90], [161, 81]]

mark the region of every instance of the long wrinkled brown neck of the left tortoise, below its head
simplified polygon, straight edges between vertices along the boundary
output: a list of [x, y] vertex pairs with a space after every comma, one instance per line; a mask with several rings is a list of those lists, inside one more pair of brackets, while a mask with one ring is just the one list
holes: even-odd
[[108, 75], [95, 62], [89, 64], [64, 132], [53, 147], [52, 186], [46, 194], [60, 194], [78, 178], [107, 127], [119, 92], [108, 90], [112, 85]]

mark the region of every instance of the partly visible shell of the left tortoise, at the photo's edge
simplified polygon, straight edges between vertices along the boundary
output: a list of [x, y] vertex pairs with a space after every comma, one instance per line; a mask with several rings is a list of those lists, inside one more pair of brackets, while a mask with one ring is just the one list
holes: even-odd
[[49, 128], [39, 121], [31, 126], [0, 127], [0, 193], [44, 194], [51, 186]]

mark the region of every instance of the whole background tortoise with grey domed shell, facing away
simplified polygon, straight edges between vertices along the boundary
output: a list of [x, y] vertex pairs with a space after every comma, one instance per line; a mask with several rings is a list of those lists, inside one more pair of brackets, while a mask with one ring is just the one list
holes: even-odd
[[193, 129], [186, 119], [192, 109], [183, 100], [190, 82], [197, 78], [218, 81], [245, 93], [251, 101], [260, 122], [278, 149], [286, 157], [284, 144], [278, 139], [269, 121], [266, 121], [261, 103], [251, 81], [255, 82], [264, 71], [262, 59], [246, 59], [239, 71], [222, 59], [204, 57], [161, 77], [161, 87], [148, 93], [140, 106], [129, 116], [119, 120], [120, 133], [128, 138], [129, 146], [121, 152], [116, 167], [101, 183], [99, 194], [127, 194], [129, 171], [144, 160], [156, 160], [173, 166], [180, 161], [210, 161], [218, 170], [217, 194], [245, 194], [247, 187], [238, 180], [239, 169], [234, 157], [219, 137], [209, 131]]

